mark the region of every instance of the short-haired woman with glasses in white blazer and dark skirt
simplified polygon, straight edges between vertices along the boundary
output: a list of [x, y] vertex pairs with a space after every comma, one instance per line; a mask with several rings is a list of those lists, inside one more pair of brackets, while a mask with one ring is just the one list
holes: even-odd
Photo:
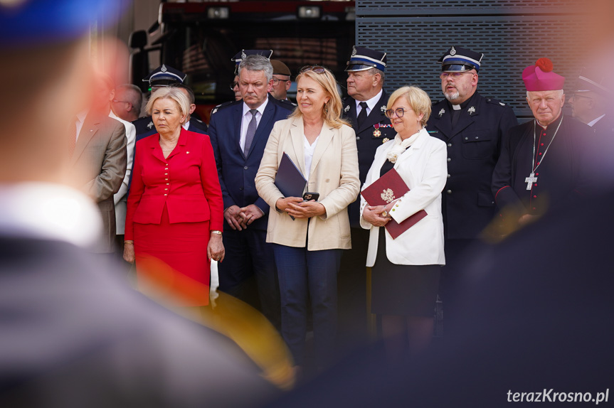
[[[433, 314], [443, 254], [441, 191], [448, 176], [445, 143], [425, 129], [430, 99], [418, 87], [401, 87], [390, 96], [386, 116], [397, 132], [379, 146], [364, 188], [395, 168], [410, 189], [386, 206], [361, 198], [361, 226], [371, 230], [367, 267], [371, 269], [371, 311], [382, 315], [382, 334], [392, 353], [407, 344], [423, 350], [433, 336]], [[382, 228], [425, 210], [428, 215], [395, 240]]]

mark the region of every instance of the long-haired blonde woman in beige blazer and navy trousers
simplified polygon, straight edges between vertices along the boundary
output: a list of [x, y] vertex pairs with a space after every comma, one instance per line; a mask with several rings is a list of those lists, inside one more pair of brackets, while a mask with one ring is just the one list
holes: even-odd
[[[267, 242], [272, 242], [280, 281], [282, 335], [297, 370], [305, 363], [307, 299], [311, 299], [317, 367], [332, 360], [337, 328], [337, 272], [349, 249], [347, 206], [359, 193], [354, 130], [341, 119], [342, 101], [332, 73], [306, 67], [297, 76], [298, 108], [277, 122], [255, 178], [271, 207]], [[317, 201], [284, 197], [275, 186], [286, 153], [307, 179]], [[290, 215], [295, 219], [292, 220]]]

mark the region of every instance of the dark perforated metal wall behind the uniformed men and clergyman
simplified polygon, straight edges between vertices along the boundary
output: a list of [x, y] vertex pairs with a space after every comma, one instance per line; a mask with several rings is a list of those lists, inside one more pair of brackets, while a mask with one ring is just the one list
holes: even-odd
[[[556, 73], [567, 78], [566, 91], [572, 89], [586, 50], [587, 17], [582, 15], [499, 15], [459, 16], [446, 9], [445, 16], [386, 16], [361, 14], [369, 7], [387, 7], [386, 1], [357, 1], [356, 43], [388, 53], [385, 88], [388, 92], [403, 85], [418, 85], [433, 101], [443, 95], [440, 88], [438, 58], [450, 45], [485, 54], [478, 91], [510, 104], [519, 117], [529, 117], [522, 70], [537, 58], [549, 57]], [[391, 2], [392, 3], [392, 2]], [[403, 6], [399, 4], [403, 3]], [[417, 1], [396, 2], [408, 13]], [[454, 4], [460, 1], [423, 1], [421, 4]], [[465, 2], [467, 3], [467, 2]], [[473, 1], [482, 6], [518, 4], [519, 1]], [[525, 1], [546, 4], [546, 1]], [[552, 1], [549, 1], [552, 4]], [[569, 3], [569, 1], [562, 1]], [[557, 8], [557, 10], [559, 10]], [[381, 11], [381, 9], [380, 9]], [[441, 13], [441, 11], [440, 11]], [[466, 11], [465, 11], [466, 14]]]

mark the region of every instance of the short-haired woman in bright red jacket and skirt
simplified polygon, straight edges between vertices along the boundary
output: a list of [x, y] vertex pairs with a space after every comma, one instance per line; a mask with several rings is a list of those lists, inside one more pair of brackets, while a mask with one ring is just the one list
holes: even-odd
[[189, 107], [170, 87], [147, 103], [158, 133], [137, 143], [124, 259], [136, 260], [139, 289], [155, 274], [180, 306], [205, 306], [211, 259], [224, 258], [223, 201], [209, 136], [181, 126]]

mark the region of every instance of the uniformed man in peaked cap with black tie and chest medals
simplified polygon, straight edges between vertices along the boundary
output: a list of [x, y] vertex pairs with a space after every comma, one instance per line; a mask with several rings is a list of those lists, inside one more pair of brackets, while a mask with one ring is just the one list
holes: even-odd
[[[382, 89], [386, 53], [353, 47], [347, 63], [347, 93], [343, 117], [356, 132], [356, 147], [361, 186], [373, 163], [375, 150], [394, 139], [390, 119], [386, 117], [388, 94]], [[366, 252], [369, 231], [360, 227], [360, 198], [349, 205], [351, 250], [345, 251], [339, 269], [339, 340], [347, 348], [366, 341]]]

